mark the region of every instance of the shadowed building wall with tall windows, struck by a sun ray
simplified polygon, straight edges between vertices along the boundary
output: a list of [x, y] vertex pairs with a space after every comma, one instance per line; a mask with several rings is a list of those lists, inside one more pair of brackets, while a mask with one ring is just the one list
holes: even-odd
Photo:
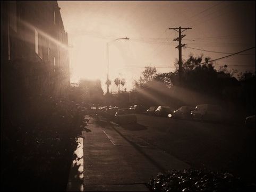
[[1, 1], [1, 89], [64, 94], [67, 45], [57, 1]]

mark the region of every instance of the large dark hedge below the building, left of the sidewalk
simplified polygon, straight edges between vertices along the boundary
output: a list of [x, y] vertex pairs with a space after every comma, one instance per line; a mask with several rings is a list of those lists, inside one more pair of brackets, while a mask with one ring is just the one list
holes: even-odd
[[1, 154], [5, 157], [5, 177], [1, 188], [10, 188], [14, 179], [12, 190], [65, 190], [76, 149], [75, 137], [82, 129], [81, 106], [46, 95], [33, 97], [25, 105], [23, 112], [29, 118], [23, 122], [15, 123], [4, 110]]

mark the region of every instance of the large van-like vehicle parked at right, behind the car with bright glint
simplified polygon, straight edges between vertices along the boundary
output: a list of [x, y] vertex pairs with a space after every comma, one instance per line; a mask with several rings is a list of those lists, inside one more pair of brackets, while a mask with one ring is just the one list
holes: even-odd
[[214, 104], [199, 104], [191, 111], [192, 119], [201, 121], [223, 121], [224, 110]]

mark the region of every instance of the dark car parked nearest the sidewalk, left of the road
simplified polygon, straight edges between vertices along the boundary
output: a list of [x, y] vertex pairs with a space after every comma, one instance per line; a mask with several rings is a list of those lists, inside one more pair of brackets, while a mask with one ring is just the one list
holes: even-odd
[[118, 109], [115, 113], [115, 122], [118, 124], [136, 123], [136, 115], [130, 109]]

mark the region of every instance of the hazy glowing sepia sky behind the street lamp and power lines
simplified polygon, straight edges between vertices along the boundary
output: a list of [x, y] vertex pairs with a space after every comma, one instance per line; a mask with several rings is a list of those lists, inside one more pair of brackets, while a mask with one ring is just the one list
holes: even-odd
[[[183, 59], [192, 53], [212, 59], [255, 46], [254, 1], [58, 1], [69, 35], [71, 81], [99, 78], [106, 91], [107, 42], [109, 45], [110, 90], [116, 91], [115, 77], [125, 78], [127, 90], [143, 67], [158, 72], [174, 70], [178, 58], [178, 36], [168, 28], [191, 27], [184, 31]], [[255, 49], [216, 61], [229, 69], [255, 71]]]

